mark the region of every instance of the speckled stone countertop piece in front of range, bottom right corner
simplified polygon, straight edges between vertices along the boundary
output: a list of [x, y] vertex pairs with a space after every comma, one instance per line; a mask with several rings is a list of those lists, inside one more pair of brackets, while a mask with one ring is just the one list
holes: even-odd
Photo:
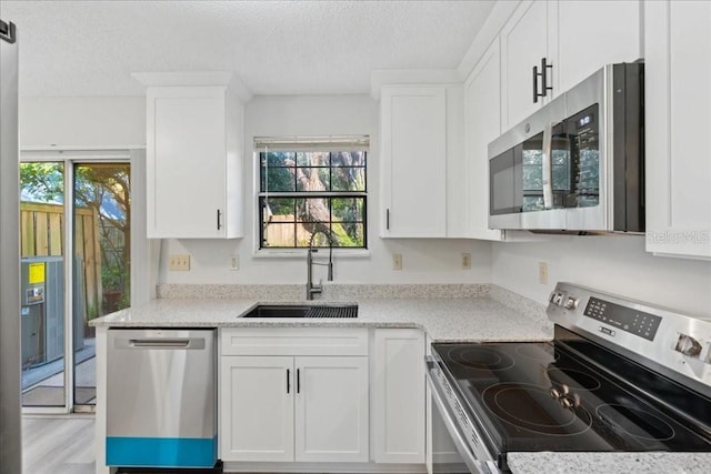
[[509, 453], [513, 474], [708, 474], [711, 453]]

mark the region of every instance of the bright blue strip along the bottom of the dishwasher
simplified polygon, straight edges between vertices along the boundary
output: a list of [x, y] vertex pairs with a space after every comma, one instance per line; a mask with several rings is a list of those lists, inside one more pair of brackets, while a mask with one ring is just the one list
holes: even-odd
[[123, 467], [212, 467], [214, 437], [107, 437], [107, 465]]

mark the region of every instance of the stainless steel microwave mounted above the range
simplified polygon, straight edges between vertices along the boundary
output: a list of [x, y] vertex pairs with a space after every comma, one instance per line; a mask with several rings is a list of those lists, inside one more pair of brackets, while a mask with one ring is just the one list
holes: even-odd
[[489, 144], [489, 228], [644, 231], [644, 64], [609, 64]]

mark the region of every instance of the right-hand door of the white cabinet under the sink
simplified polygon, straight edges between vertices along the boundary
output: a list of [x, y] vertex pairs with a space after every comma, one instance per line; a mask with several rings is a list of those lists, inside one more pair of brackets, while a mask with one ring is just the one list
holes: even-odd
[[294, 357], [296, 461], [368, 461], [368, 357]]

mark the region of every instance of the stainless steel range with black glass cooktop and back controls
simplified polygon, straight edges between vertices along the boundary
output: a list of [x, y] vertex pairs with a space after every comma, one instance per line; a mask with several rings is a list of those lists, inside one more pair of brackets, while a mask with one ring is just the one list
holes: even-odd
[[559, 283], [543, 343], [433, 344], [433, 401], [469, 472], [514, 452], [711, 452], [711, 321]]

